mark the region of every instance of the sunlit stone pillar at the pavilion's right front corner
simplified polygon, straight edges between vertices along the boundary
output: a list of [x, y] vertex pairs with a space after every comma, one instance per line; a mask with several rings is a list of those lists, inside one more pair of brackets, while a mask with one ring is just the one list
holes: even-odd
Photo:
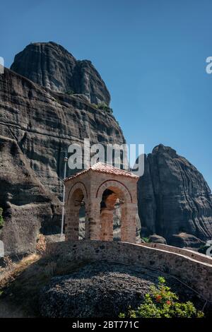
[[136, 243], [136, 213], [137, 204], [122, 205], [121, 241]]

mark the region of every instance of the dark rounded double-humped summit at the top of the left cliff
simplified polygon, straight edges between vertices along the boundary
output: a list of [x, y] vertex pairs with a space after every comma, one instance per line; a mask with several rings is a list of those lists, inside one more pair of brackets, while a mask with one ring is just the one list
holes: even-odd
[[110, 93], [88, 60], [78, 61], [54, 42], [28, 45], [15, 57], [11, 70], [50, 90], [86, 95], [92, 103], [110, 104]]

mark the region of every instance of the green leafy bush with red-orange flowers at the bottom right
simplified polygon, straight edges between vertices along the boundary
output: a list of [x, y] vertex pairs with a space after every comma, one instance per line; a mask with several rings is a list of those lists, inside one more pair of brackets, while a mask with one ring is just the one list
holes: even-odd
[[149, 294], [145, 295], [144, 302], [137, 308], [131, 309], [119, 318], [203, 318], [190, 301], [178, 302], [177, 295], [167, 287], [165, 278], [158, 278], [158, 286], [152, 286]]

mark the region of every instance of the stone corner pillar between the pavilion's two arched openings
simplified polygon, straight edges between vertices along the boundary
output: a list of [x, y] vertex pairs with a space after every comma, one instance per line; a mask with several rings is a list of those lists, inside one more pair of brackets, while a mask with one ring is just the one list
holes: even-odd
[[100, 201], [91, 198], [86, 208], [86, 239], [100, 239]]

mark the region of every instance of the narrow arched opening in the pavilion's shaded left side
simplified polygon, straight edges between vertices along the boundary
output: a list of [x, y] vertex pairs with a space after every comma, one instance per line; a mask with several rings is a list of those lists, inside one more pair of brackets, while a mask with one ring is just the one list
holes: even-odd
[[66, 239], [85, 239], [86, 202], [82, 189], [77, 188], [69, 197]]

